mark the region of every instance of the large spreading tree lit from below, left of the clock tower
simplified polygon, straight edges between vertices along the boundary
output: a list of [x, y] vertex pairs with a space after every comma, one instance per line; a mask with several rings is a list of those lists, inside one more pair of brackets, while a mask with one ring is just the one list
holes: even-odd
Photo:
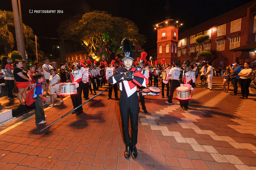
[[89, 51], [89, 55], [100, 49], [100, 54], [108, 56], [109, 51], [116, 55], [124, 38], [143, 45], [146, 42], [144, 35], [138, 33], [139, 29], [134, 22], [113, 17], [106, 11], [93, 11], [72, 18], [61, 23], [58, 32], [62, 38], [78, 39]]

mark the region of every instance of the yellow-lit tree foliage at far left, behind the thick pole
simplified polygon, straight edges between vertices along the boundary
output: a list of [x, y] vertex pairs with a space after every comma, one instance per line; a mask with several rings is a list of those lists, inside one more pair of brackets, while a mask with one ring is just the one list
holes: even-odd
[[[35, 35], [33, 30], [23, 24], [25, 48], [32, 48], [35, 46], [35, 42], [32, 40]], [[15, 43], [15, 27], [13, 12], [0, 10], [0, 46], [4, 46], [5, 56], [8, 56], [8, 52], [12, 51]]]

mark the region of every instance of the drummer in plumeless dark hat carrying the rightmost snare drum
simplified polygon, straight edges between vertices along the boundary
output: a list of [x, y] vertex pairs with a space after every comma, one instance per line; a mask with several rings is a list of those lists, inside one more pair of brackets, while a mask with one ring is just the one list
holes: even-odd
[[[194, 91], [195, 88], [195, 72], [189, 69], [191, 62], [184, 61], [183, 70], [180, 71], [179, 82], [180, 86], [191, 85], [191, 91]], [[190, 87], [189, 87], [190, 88]], [[180, 106], [183, 110], [190, 110], [188, 107], [189, 99], [180, 100]]]

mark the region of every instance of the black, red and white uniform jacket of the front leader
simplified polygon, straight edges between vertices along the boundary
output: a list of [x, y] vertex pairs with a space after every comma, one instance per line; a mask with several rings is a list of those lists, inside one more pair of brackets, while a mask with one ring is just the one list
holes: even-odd
[[[135, 71], [136, 68], [132, 67], [129, 70], [127, 70], [124, 67], [119, 67], [117, 69], [114, 69], [114, 74], [108, 79], [108, 82], [111, 84], [114, 84], [118, 82], [127, 71]], [[148, 79], [146, 79], [141, 72], [136, 72], [133, 75], [133, 80], [127, 81], [123, 80], [120, 83], [119, 89], [122, 92], [126, 92], [127, 97], [130, 97], [133, 93], [137, 92], [137, 85], [147, 87]], [[124, 88], [124, 89], [123, 89]]]

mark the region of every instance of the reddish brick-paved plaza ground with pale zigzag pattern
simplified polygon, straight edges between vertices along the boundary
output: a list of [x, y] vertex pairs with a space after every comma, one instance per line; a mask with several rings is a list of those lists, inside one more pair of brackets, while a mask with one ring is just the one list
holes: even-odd
[[[33, 114], [2, 125], [0, 169], [256, 170], [256, 97], [221, 92], [222, 79], [213, 78], [213, 91], [195, 88], [191, 111], [176, 99], [170, 105], [161, 95], [145, 97], [135, 160], [124, 158], [119, 99], [107, 100], [107, 91], [84, 105], [84, 113], [67, 115], [43, 133]], [[72, 108], [69, 96], [46, 108], [46, 125]]]

